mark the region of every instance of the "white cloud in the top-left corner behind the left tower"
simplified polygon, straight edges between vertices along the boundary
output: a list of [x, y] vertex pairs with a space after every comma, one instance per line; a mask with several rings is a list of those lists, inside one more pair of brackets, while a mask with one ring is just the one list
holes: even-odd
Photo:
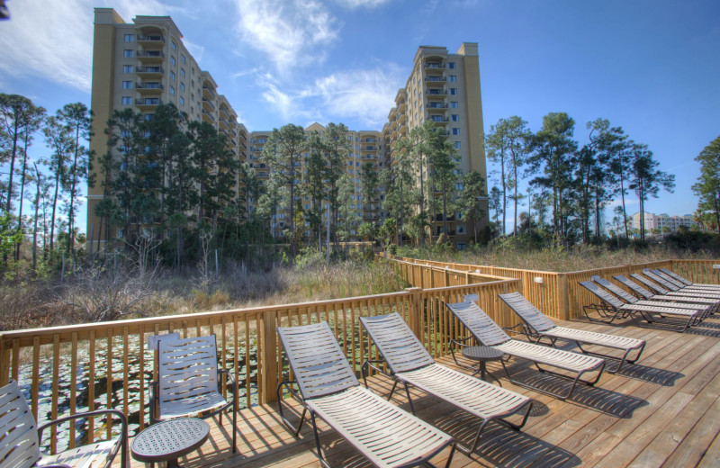
[[[102, 2], [109, 4], [109, 2]], [[12, 18], [0, 34], [0, 72], [4, 76], [42, 77], [90, 92], [93, 61], [91, 0], [12, 2]], [[138, 14], [165, 15], [180, 11], [156, 0], [120, 0], [112, 7], [126, 22]]]

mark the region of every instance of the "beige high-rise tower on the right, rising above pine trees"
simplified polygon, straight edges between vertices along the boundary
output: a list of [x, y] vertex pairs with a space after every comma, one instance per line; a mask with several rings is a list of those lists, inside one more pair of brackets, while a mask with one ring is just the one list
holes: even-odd
[[[455, 54], [445, 47], [420, 46], [415, 54], [412, 72], [404, 88], [395, 96], [395, 107], [383, 127], [385, 154], [389, 164], [397, 155], [397, 143], [413, 128], [433, 121], [453, 142], [459, 155], [460, 174], [456, 186], [462, 188], [461, 174], [477, 171], [486, 178], [485, 147], [482, 139], [482, 98], [478, 45], [464, 42]], [[487, 200], [480, 226], [487, 225]], [[461, 219], [460, 213], [448, 215], [447, 233], [456, 247], [464, 248], [473, 233], [473, 226]], [[442, 220], [435, 220], [433, 236], [443, 229]]]

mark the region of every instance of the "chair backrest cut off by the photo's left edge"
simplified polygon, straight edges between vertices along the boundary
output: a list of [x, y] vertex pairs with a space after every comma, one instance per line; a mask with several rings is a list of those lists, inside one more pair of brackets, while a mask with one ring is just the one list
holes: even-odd
[[0, 415], [0, 466], [34, 466], [40, 459], [38, 428], [15, 381], [0, 388]]

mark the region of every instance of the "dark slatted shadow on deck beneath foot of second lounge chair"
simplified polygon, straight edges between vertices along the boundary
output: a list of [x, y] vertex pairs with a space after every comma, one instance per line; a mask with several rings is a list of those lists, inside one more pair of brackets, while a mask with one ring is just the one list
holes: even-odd
[[[464, 446], [473, 443], [480, 424], [477, 418], [462, 410], [438, 414], [436, 418], [425, 420], [455, 437]], [[582, 463], [572, 452], [496, 422], [491, 423], [482, 433], [480, 445], [470, 457], [482, 466], [521, 467], [537, 460], [543, 461], [542, 466], [578, 466]]]

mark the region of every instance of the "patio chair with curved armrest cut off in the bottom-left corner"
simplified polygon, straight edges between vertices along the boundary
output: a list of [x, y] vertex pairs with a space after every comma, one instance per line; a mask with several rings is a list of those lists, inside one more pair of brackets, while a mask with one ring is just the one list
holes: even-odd
[[[75, 424], [76, 419], [90, 419], [98, 416], [120, 419], [120, 434], [110, 440], [70, 448], [55, 455], [45, 455], [40, 452], [40, 440], [42, 440], [42, 432], [45, 429], [65, 422]], [[31, 466], [42, 466], [43, 468], [103, 466], [110, 468], [118, 452], [121, 454], [121, 467], [129, 466], [128, 422], [121, 411], [96, 410], [76, 413], [50, 421], [38, 428], [18, 384], [10, 381], [0, 388], [0, 468], [29, 468]]]

